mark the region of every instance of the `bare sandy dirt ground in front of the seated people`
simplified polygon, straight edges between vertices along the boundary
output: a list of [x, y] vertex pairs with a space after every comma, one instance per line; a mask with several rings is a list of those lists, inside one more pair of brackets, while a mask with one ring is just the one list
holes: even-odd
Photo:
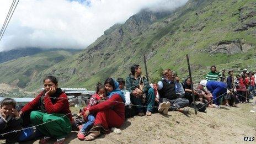
[[[254, 99], [256, 100], [256, 98]], [[94, 141], [78, 140], [77, 131], [67, 137], [65, 143], [255, 143], [244, 142], [245, 136], [256, 138], [256, 105], [238, 104], [239, 108], [221, 106], [221, 109], [207, 108], [207, 113], [187, 117], [177, 111], [168, 116], [135, 116], [127, 119], [121, 133], [111, 132]], [[74, 111], [74, 109], [72, 109]], [[0, 141], [4, 142], [4, 141]], [[38, 143], [39, 140], [25, 143]], [[50, 141], [54, 143], [54, 140]]]

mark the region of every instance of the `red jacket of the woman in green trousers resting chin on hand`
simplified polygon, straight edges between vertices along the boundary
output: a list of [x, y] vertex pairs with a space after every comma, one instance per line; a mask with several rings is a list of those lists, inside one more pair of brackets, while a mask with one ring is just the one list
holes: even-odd
[[[36, 110], [39, 106], [40, 98], [44, 94], [42, 91], [34, 100], [26, 104], [21, 111], [25, 113], [26, 111]], [[67, 95], [65, 93], [61, 93], [61, 95], [57, 98], [55, 103], [52, 103], [49, 95], [45, 95], [44, 97], [45, 110], [48, 114], [59, 113], [59, 114], [68, 114], [68, 118], [72, 121], [72, 115], [70, 111], [70, 105], [68, 104]]]

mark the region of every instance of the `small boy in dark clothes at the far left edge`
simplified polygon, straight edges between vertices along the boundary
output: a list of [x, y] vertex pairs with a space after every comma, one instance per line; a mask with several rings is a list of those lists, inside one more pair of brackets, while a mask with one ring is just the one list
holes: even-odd
[[12, 98], [5, 98], [1, 102], [0, 139], [6, 139], [6, 143], [17, 142], [19, 132], [12, 132], [6, 135], [1, 134], [22, 129], [22, 120], [20, 119], [19, 112], [15, 107], [16, 102]]

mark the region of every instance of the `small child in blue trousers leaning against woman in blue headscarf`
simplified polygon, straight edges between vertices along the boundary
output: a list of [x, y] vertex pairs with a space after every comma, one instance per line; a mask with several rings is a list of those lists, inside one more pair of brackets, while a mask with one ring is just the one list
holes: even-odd
[[79, 130], [77, 137], [80, 140], [84, 140], [84, 135], [90, 130], [90, 128], [94, 124], [95, 115], [89, 114], [87, 117], [84, 116], [84, 112], [90, 108], [90, 106], [97, 105], [100, 103], [100, 100], [103, 99], [106, 96], [106, 90], [104, 84], [98, 83], [96, 88], [96, 93], [90, 98], [90, 102], [88, 106], [83, 108], [83, 111], [78, 114], [78, 116], [83, 116], [84, 121], [87, 121], [86, 124], [83, 124], [81, 126], [81, 129]]

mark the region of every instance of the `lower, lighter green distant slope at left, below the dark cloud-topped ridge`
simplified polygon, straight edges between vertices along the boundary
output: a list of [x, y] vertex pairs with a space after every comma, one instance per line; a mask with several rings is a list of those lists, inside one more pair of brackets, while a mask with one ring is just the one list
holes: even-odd
[[47, 50], [36, 55], [0, 63], [0, 83], [13, 84], [24, 88], [42, 70], [72, 56], [75, 52], [77, 50]]

